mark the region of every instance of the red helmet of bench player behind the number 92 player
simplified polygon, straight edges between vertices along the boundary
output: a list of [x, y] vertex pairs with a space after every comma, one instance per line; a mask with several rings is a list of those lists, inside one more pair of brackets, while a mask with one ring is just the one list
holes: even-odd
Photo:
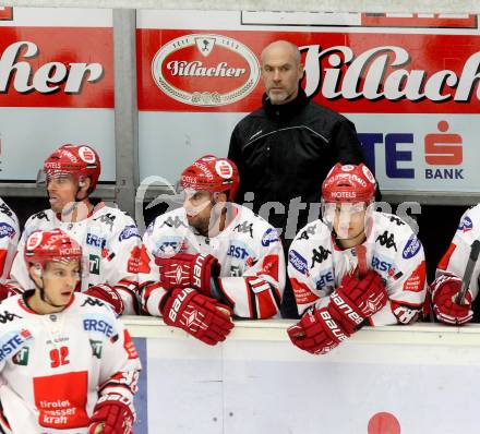
[[89, 177], [91, 192], [95, 190], [98, 183], [100, 170], [101, 165], [98, 154], [86, 145], [60, 146], [44, 164], [44, 172], [47, 177], [65, 173], [76, 177]]

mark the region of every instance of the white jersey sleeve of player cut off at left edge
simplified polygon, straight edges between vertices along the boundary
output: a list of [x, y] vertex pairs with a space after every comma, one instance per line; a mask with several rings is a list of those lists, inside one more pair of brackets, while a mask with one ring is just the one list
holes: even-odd
[[0, 198], [0, 284], [4, 284], [9, 278], [19, 238], [19, 219]]

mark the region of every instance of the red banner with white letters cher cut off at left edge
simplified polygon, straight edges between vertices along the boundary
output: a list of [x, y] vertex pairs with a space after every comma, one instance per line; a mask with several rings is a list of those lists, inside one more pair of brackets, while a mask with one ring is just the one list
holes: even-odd
[[0, 107], [113, 107], [110, 27], [0, 27]]

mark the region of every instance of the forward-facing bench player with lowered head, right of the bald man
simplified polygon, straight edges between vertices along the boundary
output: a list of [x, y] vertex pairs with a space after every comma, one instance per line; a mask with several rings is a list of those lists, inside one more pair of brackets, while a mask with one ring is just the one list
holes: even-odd
[[373, 210], [375, 179], [337, 164], [322, 185], [322, 218], [291, 243], [288, 274], [299, 323], [288, 329], [302, 350], [324, 354], [362, 325], [409, 324], [425, 296], [423, 248], [400, 218]]

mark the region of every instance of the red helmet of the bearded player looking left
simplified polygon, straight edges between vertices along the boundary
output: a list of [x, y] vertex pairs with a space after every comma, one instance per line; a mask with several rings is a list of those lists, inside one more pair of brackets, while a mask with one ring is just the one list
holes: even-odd
[[183, 170], [180, 177], [182, 189], [204, 190], [212, 193], [229, 192], [235, 200], [240, 183], [237, 166], [227, 158], [205, 155]]

